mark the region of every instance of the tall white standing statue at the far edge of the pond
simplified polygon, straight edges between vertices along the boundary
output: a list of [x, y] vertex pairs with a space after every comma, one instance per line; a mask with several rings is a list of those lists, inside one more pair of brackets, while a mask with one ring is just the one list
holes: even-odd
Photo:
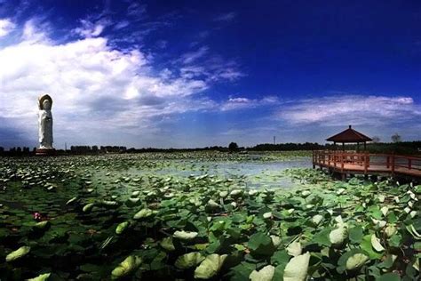
[[52, 148], [52, 97], [44, 94], [38, 98], [39, 149]]

